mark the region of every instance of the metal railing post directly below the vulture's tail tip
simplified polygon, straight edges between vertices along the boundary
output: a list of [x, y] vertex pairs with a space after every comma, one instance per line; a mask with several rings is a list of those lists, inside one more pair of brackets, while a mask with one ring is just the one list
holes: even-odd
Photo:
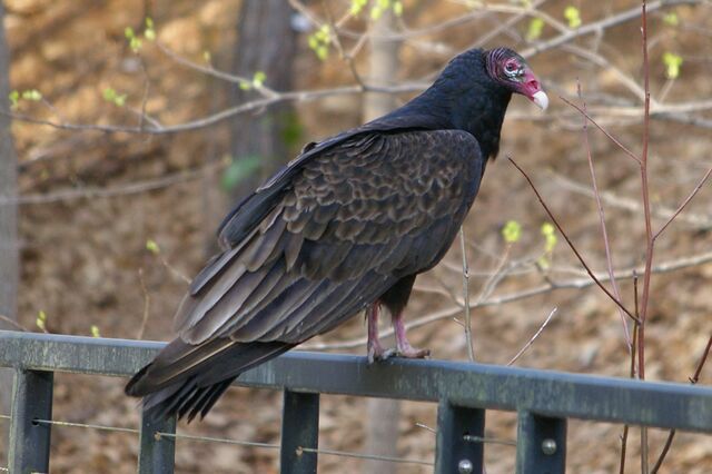
[[176, 417], [151, 422], [146, 413], [141, 414], [139, 434], [138, 472], [139, 474], [172, 474], [176, 463], [176, 438], [156, 433], [176, 433]]

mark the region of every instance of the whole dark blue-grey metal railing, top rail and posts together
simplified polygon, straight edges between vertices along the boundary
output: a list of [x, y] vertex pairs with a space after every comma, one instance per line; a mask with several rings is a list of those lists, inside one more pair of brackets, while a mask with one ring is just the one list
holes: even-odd
[[[51, 427], [61, 424], [52, 422], [53, 373], [126, 377], [162, 346], [0, 332], [0, 366], [16, 369], [8, 471], [49, 471]], [[365, 357], [291, 352], [236, 385], [284, 391], [281, 443], [269, 445], [280, 450], [283, 473], [315, 473], [317, 455], [329, 454], [318, 448], [319, 394], [438, 403], [436, 473], [482, 472], [486, 409], [517, 412], [516, 468], [526, 474], [565, 471], [567, 418], [712, 433], [712, 388], [685, 384], [443, 361], [369, 366]], [[139, 433], [139, 473], [172, 473], [175, 419], [122, 429]]]

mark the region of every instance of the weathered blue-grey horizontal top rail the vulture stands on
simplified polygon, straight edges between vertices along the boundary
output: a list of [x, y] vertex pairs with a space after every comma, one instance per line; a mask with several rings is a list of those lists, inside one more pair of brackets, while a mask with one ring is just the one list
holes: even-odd
[[[0, 330], [0, 366], [130, 376], [164, 343]], [[530, 412], [712, 433], [712, 387], [444, 361], [290, 352], [236, 385]]]

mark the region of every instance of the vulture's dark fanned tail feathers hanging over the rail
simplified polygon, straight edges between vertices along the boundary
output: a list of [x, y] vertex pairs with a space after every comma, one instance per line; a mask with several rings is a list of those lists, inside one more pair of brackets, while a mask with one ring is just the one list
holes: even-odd
[[187, 415], [188, 422], [198, 414], [202, 418], [243, 372], [295, 346], [281, 342], [212, 343], [191, 346], [174, 340], [129, 381], [126, 394], [144, 397], [144, 412], [154, 421], [174, 415]]

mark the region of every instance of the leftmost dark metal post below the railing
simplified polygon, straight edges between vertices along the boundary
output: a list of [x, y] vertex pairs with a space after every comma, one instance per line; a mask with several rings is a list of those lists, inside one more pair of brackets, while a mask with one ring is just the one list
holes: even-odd
[[8, 463], [11, 473], [49, 472], [51, 425], [34, 419], [52, 419], [53, 381], [51, 372], [14, 373]]

